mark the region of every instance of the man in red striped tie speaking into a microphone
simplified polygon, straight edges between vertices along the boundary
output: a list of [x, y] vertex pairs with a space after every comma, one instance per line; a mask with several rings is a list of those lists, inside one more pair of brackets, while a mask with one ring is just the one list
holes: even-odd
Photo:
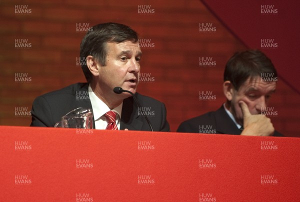
[[[81, 58], [87, 83], [38, 96], [32, 104], [31, 126], [53, 127], [67, 112], [84, 107], [92, 109], [95, 129], [151, 130], [140, 113], [142, 107], [147, 107], [154, 114], [148, 117], [153, 130], [170, 130], [164, 104], [136, 92], [141, 50], [134, 30], [112, 22], [91, 27], [80, 44], [80, 61]], [[135, 94], [141, 107], [130, 93], [115, 93], [115, 87]], [[78, 95], [88, 96], [80, 99]]]

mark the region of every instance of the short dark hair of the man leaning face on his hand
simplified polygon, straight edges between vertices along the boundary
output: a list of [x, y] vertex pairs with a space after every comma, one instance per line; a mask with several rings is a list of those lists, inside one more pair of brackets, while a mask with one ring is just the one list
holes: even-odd
[[238, 90], [248, 78], [253, 79], [261, 75], [277, 78], [277, 72], [271, 60], [260, 50], [245, 50], [234, 53], [227, 61], [224, 81], [229, 80], [234, 89]]

